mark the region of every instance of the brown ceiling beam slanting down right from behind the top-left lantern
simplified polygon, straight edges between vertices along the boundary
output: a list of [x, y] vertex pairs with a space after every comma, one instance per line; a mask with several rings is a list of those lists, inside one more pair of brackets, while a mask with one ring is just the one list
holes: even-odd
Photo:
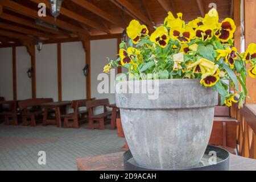
[[[46, 4], [46, 6], [48, 8], [50, 8], [49, 2], [47, 0], [30, 0], [30, 1], [35, 2], [35, 3], [42, 3], [43, 2], [43, 3]], [[96, 22], [94, 22], [94, 21], [92, 21], [90, 19], [84, 18], [84, 16], [76, 14], [76, 13], [74, 13], [71, 10], [65, 9], [64, 7], [61, 7], [60, 14], [62, 14], [64, 16], [67, 16], [68, 18], [74, 19], [77, 22], [84, 23], [84, 24], [86, 24], [86, 25], [88, 25], [90, 27], [93, 27], [93, 28], [96, 28], [98, 30], [104, 31], [104, 32], [106, 32], [108, 34], [111, 34], [111, 32], [107, 28], [105, 28], [104, 26], [101, 26], [101, 24], [98, 24], [98, 23], [96, 23]], [[56, 22], [57, 21], [58, 20], [56, 20]], [[83, 34], [84, 30], [81, 28], [80, 31], [78, 31], [78, 32]]]

